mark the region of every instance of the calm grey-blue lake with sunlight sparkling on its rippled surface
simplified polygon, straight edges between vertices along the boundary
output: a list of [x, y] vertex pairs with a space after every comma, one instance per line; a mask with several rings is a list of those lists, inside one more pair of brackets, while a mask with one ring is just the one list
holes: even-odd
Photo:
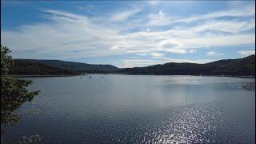
[[90, 74], [26, 78], [42, 90], [6, 130], [12, 142], [254, 143], [254, 78]]

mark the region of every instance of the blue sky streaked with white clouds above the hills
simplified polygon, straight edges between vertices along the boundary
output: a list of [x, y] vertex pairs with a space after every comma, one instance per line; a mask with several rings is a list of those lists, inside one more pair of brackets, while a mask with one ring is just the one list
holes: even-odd
[[255, 53], [255, 1], [1, 1], [13, 58], [119, 68]]

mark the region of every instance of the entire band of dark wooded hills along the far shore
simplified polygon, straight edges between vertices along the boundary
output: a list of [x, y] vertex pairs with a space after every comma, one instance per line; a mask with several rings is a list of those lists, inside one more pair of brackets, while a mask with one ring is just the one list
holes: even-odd
[[98, 74], [154, 74], [154, 75], [226, 75], [254, 76], [255, 55], [246, 58], [226, 59], [206, 64], [175, 63], [146, 67], [118, 69], [111, 65], [90, 65], [81, 62], [58, 60], [15, 59], [10, 74], [21, 75], [76, 75]]

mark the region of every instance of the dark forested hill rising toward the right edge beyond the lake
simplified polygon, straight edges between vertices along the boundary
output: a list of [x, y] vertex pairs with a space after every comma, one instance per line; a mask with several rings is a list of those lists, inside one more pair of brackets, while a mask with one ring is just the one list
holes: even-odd
[[255, 76], [255, 55], [206, 64], [175, 63], [119, 70], [122, 74]]

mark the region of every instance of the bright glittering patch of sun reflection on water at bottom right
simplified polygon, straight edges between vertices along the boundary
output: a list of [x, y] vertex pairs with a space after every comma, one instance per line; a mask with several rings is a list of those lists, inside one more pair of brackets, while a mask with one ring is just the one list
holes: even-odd
[[144, 134], [142, 142], [213, 143], [223, 118], [214, 103], [181, 106], [158, 123], [157, 130]]

